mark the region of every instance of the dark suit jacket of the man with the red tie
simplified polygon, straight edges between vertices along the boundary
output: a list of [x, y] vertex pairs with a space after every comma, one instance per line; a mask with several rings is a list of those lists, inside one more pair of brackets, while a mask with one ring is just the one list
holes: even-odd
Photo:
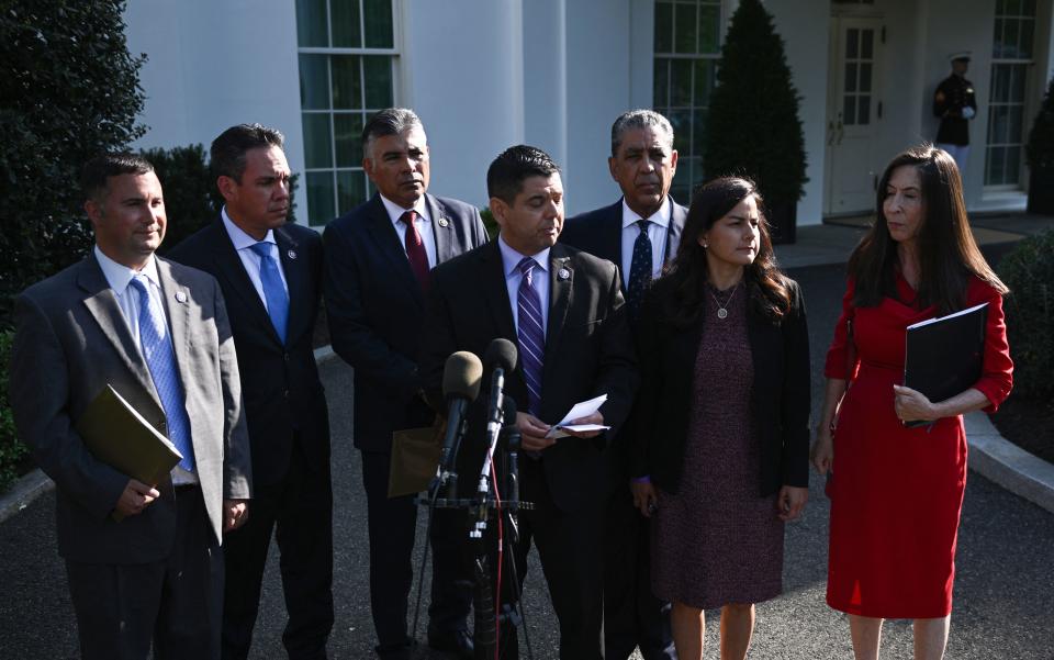
[[[430, 194], [425, 205], [438, 264], [486, 243], [474, 206]], [[329, 223], [324, 240], [330, 342], [355, 368], [355, 446], [390, 451], [393, 430], [433, 420], [417, 395], [425, 297], [379, 195]]]

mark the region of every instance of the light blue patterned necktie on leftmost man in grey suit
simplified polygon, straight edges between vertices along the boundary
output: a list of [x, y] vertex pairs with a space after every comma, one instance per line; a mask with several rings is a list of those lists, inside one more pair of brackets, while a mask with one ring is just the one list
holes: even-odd
[[150, 295], [146, 276], [135, 276], [132, 278], [131, 286], [139, 292], [139, 350], [146, 358], [146, 366], [154, 380], [154, 389], [157, 390], [161, 407], [165, 409], [168, 439], [183, 455], [179, 467], [193, 471], [194, 446], [190, 439], [190, 418], [187, 416], [183, 385], [176, 368], [172, 343], [168, 340], [165, 314], [161, 312], [160, 302]]

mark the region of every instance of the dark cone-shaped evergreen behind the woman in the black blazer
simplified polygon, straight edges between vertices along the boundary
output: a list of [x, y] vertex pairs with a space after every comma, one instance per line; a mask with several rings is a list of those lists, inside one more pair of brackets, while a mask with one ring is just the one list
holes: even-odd
[[703, 158], [707, 178], [751, 177], [770, 205], [801, 199], [808, 178], [798, 104], [772, 15], [760, 0], [741, 0], [710, 94]]

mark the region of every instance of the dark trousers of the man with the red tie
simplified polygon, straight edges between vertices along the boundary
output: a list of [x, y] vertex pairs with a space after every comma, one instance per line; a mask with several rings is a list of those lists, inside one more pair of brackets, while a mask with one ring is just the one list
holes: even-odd
[[[414, 580], [413, 551], [417, 532], [414, 495], [388, 496], [391, 455], [362, 452], [370, 535], [370, 607], [378, 653], [405, 653], [410, 589]], [[431, 522], [431, 603], [428, 630], [445, 635], [468, 628], [471, 608], [469, 573], [461, 540], [467, 536], [464, 512], [438, 508]]]

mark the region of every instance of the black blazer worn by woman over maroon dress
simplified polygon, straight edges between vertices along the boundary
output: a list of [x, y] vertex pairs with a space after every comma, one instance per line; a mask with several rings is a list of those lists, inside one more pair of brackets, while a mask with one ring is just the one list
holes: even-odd
[[[753, 354], [754, 384], [750, 410], [761, 434], [761, 494], [782, 485], [809, 484], [809, 333], [805, 301], [797, 283], [790, 311], [773, 324], [748, 305], [747, 333]], [[684, 467], [684, 446], [692, 414], [695, 358], [703, 334], [669, 322], [673, 303], [671, 280], [660, 279], [644, 297], [638, 328], [641, 393], [636, 410], [636, 476], [675, 493]], [[758, 286], [748, 282], [751, 294]], [[704, 396], [706, 394], [704, 393]]]

